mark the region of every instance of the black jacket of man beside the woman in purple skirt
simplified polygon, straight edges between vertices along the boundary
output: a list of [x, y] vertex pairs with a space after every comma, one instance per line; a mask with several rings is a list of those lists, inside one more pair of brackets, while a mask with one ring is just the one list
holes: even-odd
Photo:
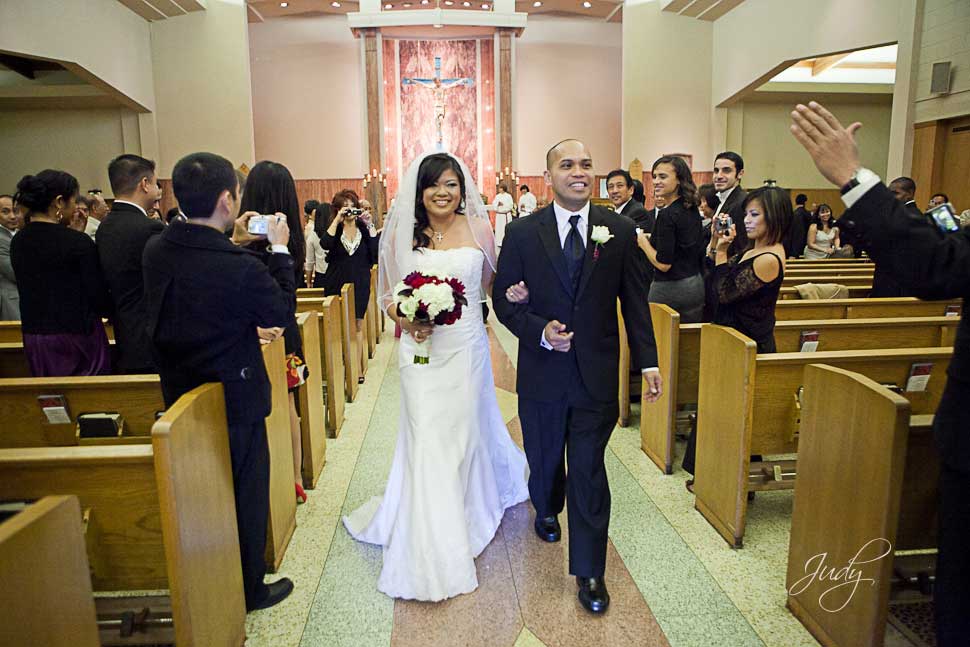
[[118, 349], [119, 372], [154, 373], [145, 313], [141, 255], [145, 244], [165, 229], [138, 207], [116, 202], [98, 227], [98, 257], [114, 303], [112, 323]]

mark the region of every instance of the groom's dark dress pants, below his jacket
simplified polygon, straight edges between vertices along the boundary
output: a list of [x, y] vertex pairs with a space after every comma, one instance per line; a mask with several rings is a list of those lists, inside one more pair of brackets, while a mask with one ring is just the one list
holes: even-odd
[[563, 376], [565, 397], [554, 402], [519, 398], [522, 439], [531, 470], [529, 495], [538, 517], [557, 515], [567, 507], [569, 572], [602, 577], [610, 524], [604, 455], [619, 405], [616, 400], [604, 403], [590, 396], [579, 376], [575, 352], [570, 354], [571, 370]]

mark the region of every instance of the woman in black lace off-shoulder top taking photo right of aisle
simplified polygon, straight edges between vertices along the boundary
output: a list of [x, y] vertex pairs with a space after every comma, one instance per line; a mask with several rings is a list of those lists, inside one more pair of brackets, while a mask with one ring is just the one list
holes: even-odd
[[[717, 223], [711, 223], [717, 248], [708, 300], [714, 305], [714, 323], [750, 337], [759, 353], [773, 353], [775, 302], [785, 278], [784, 240], [792, 222], [791, 197], [778, 187], [755, 189], [744, 200], [744, 214], [745, 233], [753, 245], [731, 259], [727, 254], [737, 235], [734, 226], [730, 233], [719, 235]], [[684, 453], [683, 468], [690, 474], [694, 473], [696, 447], [695, 429]], [[687, 481], [691, 492], [693, 485], [694, 479]]]

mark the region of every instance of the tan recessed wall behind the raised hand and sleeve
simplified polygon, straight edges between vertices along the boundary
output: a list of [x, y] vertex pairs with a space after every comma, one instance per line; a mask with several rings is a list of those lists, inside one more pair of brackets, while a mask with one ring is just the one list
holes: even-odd
[[[745, 186], [760, 186], [766, 178], [785, 187], [830, 186], [788, 130], [791, 107], [790, 101], [779, 101], [744, 103], [732, 108], [732, 119], [737, 112], [741, 113], [741, 145], [737, 152], [744, 158]], [[857, 136], [859, 154], [868, 168], [885, 177], [892, 105], [888, 101], [881, 104], [829, 101], [828, 107], [846, 123], [863, 123]]]

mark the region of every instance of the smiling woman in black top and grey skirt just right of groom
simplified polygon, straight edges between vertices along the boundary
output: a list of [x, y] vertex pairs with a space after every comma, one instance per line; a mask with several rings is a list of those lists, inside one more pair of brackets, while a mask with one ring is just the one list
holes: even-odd
[[649, 299], [679, 312], [682, 323], [698, 323], [704, 313], [703, 236], [697, 189], [687, 163], [672, 155], [658, 159], [653, 163], [653, 187], [667, 206], [657, 214], [653, 234], [638, 238], [656, 270]]

